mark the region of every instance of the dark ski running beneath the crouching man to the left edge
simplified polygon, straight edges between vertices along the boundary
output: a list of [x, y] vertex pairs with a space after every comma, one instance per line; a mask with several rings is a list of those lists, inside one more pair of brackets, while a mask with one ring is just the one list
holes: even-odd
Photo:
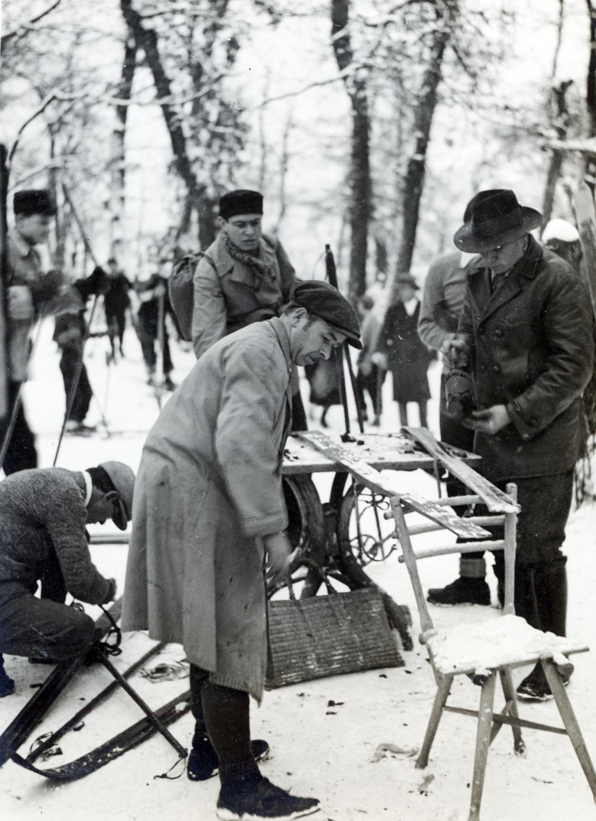
[[[121, 608], [122, 599], [117, 599], [111, 605], [108, 612], [114, 621], [120, 618]], [[100, 638], [102, 638], [110, 631], [111, 621], [105, 613], [102, 613], [95, 622], [95, 626], [100, 629]], [[2, 736], [0, 736], [0, 767], [6, 764], [13, 754], [16, 754], [16, 750], [27, 740], [34, 727], [39, 724], [83, 663], [84, 654], [80, 654], [75, 658], [67, 658], [57, 664], [43, 682], [43, 685], [39, 687], [39, 690], [29, 699], [23, 709], [20, 710], [20, 713], [13, 718], [6, 730], [2, 732]]]

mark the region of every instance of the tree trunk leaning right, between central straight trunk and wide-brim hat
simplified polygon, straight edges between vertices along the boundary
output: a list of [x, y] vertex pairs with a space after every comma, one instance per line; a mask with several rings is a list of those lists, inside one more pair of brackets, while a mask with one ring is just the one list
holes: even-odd
[[[443, 21], [443, 23], [444, 25], [437, 28], [434, 34], [434, 43], [430, 51], [428, 66], [422, 78], [421, 91], [414, 114], [413, 132], [416, 141], [414, 152], [407, 163], [406, 177], [403, 182], [402, 231], [398, 246], [398, 258], [395, 264], [395, 277], [408, 273], [412, 265], [426, 170], [426, 149], [430, 140], [434, 109], [437, 105], [437, 87], [441, 80], [443, 57], [449, 39], [447, 21]], [[394, 290], [394, 287], [392, 287], [392, 298]]]

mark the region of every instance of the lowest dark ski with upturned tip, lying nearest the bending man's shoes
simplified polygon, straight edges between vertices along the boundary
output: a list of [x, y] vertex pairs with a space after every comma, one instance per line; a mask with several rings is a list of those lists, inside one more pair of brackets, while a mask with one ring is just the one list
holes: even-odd
[[[188, 713], [189, 709], [190, 690], [186, 690], [185, 693], [176, 696], [175, 699], [172, 699], [167, 704], [164, 704], [163, 707], [156, 710], [155, 716], [164, 727], [168, 727]], [[35, 767], [29, 759], [24, 759], [18, 753], [13, 753], [11, 758], [16, 764], [20, 764], [21, 767], [25, 767], [38, 775], [43, 775], [43, 777], [50, 778], [52, 781], [77, 781], [79, 778], [83, 778], [105, 767], [106, 764], [119, 758], [128, 752], [128, 750], [133, 750], [134, 747], [143, 744], [143, 741], [146, 741], [155, 732], [157, 732], [156, 727], [150, 719], [142, 718], [139, 722], [136, 722], [136, 724], [133, 724], [117, 736], [114, 736], [110, 741], [106, 741], [105, 744], [96, 747], [95, 750], [80, 756], [80, 758], [71, 761], [69, 764], [62, 764], [61, 767], [40, 769]]]

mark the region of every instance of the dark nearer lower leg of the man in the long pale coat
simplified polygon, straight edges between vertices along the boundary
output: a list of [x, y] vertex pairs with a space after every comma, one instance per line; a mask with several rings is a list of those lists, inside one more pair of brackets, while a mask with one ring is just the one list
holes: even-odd
[[202, 712], [220, 764], [222, 785], [260, 777], [250, 746], [248, 693], [203, 681]]

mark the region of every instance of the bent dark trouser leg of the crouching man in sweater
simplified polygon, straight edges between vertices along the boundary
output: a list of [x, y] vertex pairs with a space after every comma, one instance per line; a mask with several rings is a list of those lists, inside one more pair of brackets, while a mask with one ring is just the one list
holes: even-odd
[[17, 582], [0, 584], [0, 653], [61, 661], [88, 649], [94, 638], [93, 619], [84, 612], [36, 599]]

